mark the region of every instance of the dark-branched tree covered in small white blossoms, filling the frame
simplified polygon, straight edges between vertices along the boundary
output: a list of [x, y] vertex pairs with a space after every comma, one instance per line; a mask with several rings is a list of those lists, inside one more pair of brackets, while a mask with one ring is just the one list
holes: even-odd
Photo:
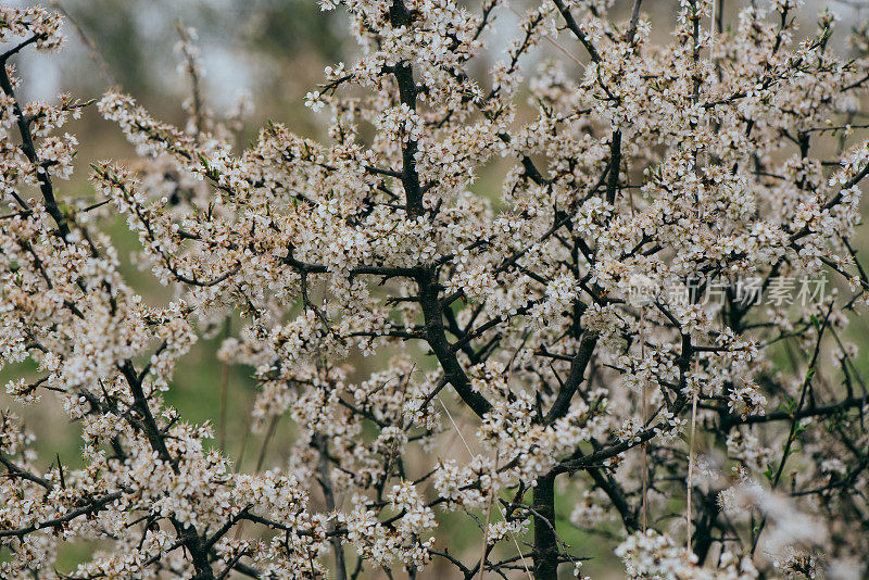
[[[16, 97], [60, 18], [0, 9], [0, 356], [84, 465], [2, 414], [0, 576], [554, 579], [600, 535], [630, 578], [865, 578], [866, 29], [837, 56], [791, 0], [682, 0], [663, 46], [639, 0], [515, 29], [499, 0], [340, 7], [361, 49], [307, 97], [326, 141], [269, 124], [238, 152], [199, 96], [181, 129], [110, 91], [142, 160], [95, 164], [85, 200], [60, 129], [90, 102]], [[121, 274], [116, 212], [166, 303]], [[240, 471], [163, 401], [228, 316], [288, 464]]]

